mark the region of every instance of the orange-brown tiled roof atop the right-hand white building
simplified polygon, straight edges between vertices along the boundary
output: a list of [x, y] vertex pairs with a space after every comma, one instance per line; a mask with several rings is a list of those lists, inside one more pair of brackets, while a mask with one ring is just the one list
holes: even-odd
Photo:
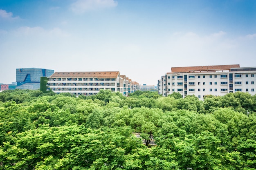
[[230, 70], [230, 68], [239, 68], [239, 64], [233, 65], [216, 65], [216, 66], [191, 66], [191, 67], [172, 67], [172, 73], [188, 73], [188, 72], [201, 72], [201, 71], [218, 71]]

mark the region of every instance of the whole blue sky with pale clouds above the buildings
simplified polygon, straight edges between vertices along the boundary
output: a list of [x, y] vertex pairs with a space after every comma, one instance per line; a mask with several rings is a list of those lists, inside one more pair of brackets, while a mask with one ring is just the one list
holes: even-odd
[[0, 83], [16, 68], [120, 71], [256, 66], [256, 0], [0, 0]]

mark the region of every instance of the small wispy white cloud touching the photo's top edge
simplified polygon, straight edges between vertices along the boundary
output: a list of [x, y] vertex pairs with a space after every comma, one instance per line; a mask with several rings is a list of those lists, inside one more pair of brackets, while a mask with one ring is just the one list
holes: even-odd
[[77, 0], [71, 5], [74, 13], [84, 13], [96, 9], [116, 7], [117, 2], [114, 0]]

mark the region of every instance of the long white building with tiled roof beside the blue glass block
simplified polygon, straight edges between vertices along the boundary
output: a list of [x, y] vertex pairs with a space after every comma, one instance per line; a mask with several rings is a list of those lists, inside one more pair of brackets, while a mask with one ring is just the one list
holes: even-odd
[[119, 71], [105, 72], [55, 72], [48, 77], [47, 90], [72, 95], [96, 95], [101, 89], [120, 92], [124, 96], [133, 93], [131, 79], [120, 75]]

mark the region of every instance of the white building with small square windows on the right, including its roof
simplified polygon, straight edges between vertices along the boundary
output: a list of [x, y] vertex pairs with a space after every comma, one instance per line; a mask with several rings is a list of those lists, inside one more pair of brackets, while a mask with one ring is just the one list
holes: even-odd
[[158, 84], [165, 89], [158, 91], [163, 96], [178, 92], [182, 97], [195, 95], [203, 99], [204, 95], [223, 96], [236, 91], [256, 94], [256, 67], [240, 68], [239, 64], [192, 66], [172, 67], [171, 71], [165, 75], [166, 85]]

